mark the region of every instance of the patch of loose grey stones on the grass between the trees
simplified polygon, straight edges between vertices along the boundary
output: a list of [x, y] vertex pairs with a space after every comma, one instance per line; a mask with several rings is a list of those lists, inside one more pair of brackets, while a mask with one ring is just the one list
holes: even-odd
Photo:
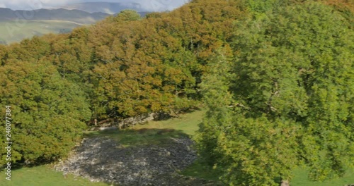
[[166, 147], [123, 147], [108, 137], [85, 138], [55, 169], [112, 185], [210, 185], [177, 173], [197, 158], [192, 147], [188, 137], [171, 138]]

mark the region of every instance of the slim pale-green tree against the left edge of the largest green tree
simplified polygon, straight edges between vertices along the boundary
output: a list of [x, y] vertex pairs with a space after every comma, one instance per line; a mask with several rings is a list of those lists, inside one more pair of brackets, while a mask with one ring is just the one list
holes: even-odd
[[214, 166], [216, 159], [222, 154], [217, 151], [218, 137], [222, 132], [222, 126], [228, 125], [231, 120], [232, 110], [232, 94], [229, 92], [229, 83], [232, 78], [231, 60], [221, 49], [212, 58], [209, 71], [202, 77], [202, 83], [199, 87], [202, 91], [203, 102], [207, 105], [207, 114], [200, 123], [200, 130], [196, 137], [198, 141], [198, 149], [202, 159]]

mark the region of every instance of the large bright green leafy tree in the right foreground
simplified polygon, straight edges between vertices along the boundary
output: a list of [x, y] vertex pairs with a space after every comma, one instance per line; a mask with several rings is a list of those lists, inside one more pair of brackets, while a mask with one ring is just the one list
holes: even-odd
[[342, 176], [354, 164], [349, 21], [329, 6], [305, 2], [249, 16], [236, 27], [232, 79], [223, 75], [217, 85], [227, 92], [206, 93], [222, 103], [224, 115], [210, 109], [200, 153], [209, 152], [229, 185], [278, 185], [275, 178], [290, 180], [302, 163], [314, 180]]

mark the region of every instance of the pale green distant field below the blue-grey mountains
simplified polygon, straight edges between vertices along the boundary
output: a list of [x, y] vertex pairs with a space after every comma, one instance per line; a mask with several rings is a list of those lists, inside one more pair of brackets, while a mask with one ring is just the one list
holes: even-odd
[[21, 42], [22, 39], [31, 38], [34, 35], [59, 33], [60, 30], [69, 32], [77, 23], [63, 20], [25, 20], [25, 21], [0, 21], [0, 42], [11, 44]]

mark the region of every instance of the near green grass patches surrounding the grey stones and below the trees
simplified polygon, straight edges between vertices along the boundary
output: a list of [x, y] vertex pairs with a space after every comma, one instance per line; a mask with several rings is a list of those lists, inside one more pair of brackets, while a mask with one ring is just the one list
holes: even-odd
[[[166, 144], [170, 137], [193, 136], [198, 130], [198, 123], [202, 120], [205, 111], [186, 113], [179, 118], [171, 118], [163, 121], [153, 121], [145, 125], [137, 125], [134, 128], [120, 131], [87, 132], [86, 137], [107, 136], [126, 146], [138, 146], [144, 144]], [[200, 161], [195, 161], [189, 168], [181, 172], [183, 175], [195, 176], [207, 180], [217, 181], [219, 173], [205, 166]], [[312, 182], [307, 178], [306, 168], [297, 168], [295, 177], [291, 181], [292, 186], [343, 186], [354, 183], [354, 171], [350, 171], [344, 178], [325, 182]], [[87, 185], [103, 186], [105, 183], [90, 182], [83, 178], [74, 178], [69, 175], [64, 178], [62, 173], [52, 170], [51, 166], [38, 166], [33, 168], [21, 168], [13, 170], [12, 180], [5, 180], [4, 172], [0, 174], [0, 186], [62, 186], [62, 185]]]

